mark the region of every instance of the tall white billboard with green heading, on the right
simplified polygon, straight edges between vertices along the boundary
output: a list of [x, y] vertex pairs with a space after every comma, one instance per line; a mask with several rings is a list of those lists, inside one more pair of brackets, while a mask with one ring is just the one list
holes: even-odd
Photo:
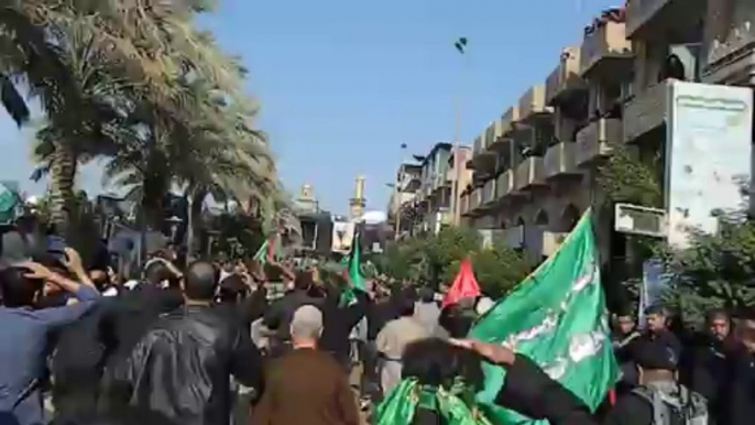
[[689, 229], [714, 233], [719, 211], [743, 208], [752, 172], [753, 91], [669, 84], [665, 194], [668, 242], [689, 246]]

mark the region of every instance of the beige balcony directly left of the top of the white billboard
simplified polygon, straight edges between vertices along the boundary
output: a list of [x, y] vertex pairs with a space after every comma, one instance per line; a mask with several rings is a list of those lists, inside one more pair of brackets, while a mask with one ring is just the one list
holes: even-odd
[[670, 80], [658, 83], [637, 94], [624, 106], [623, 140], [631, 143], [666, 123]]

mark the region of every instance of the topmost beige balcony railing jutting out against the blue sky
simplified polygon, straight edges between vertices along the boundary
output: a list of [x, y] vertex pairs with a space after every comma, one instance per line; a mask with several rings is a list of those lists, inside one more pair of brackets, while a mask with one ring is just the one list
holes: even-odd
[[626, 40], [624, 23], [608, 21], [584, 35], [580, 54], [582, 75], [589, 73], [604, 59], [632, 56], [632, 43]]

